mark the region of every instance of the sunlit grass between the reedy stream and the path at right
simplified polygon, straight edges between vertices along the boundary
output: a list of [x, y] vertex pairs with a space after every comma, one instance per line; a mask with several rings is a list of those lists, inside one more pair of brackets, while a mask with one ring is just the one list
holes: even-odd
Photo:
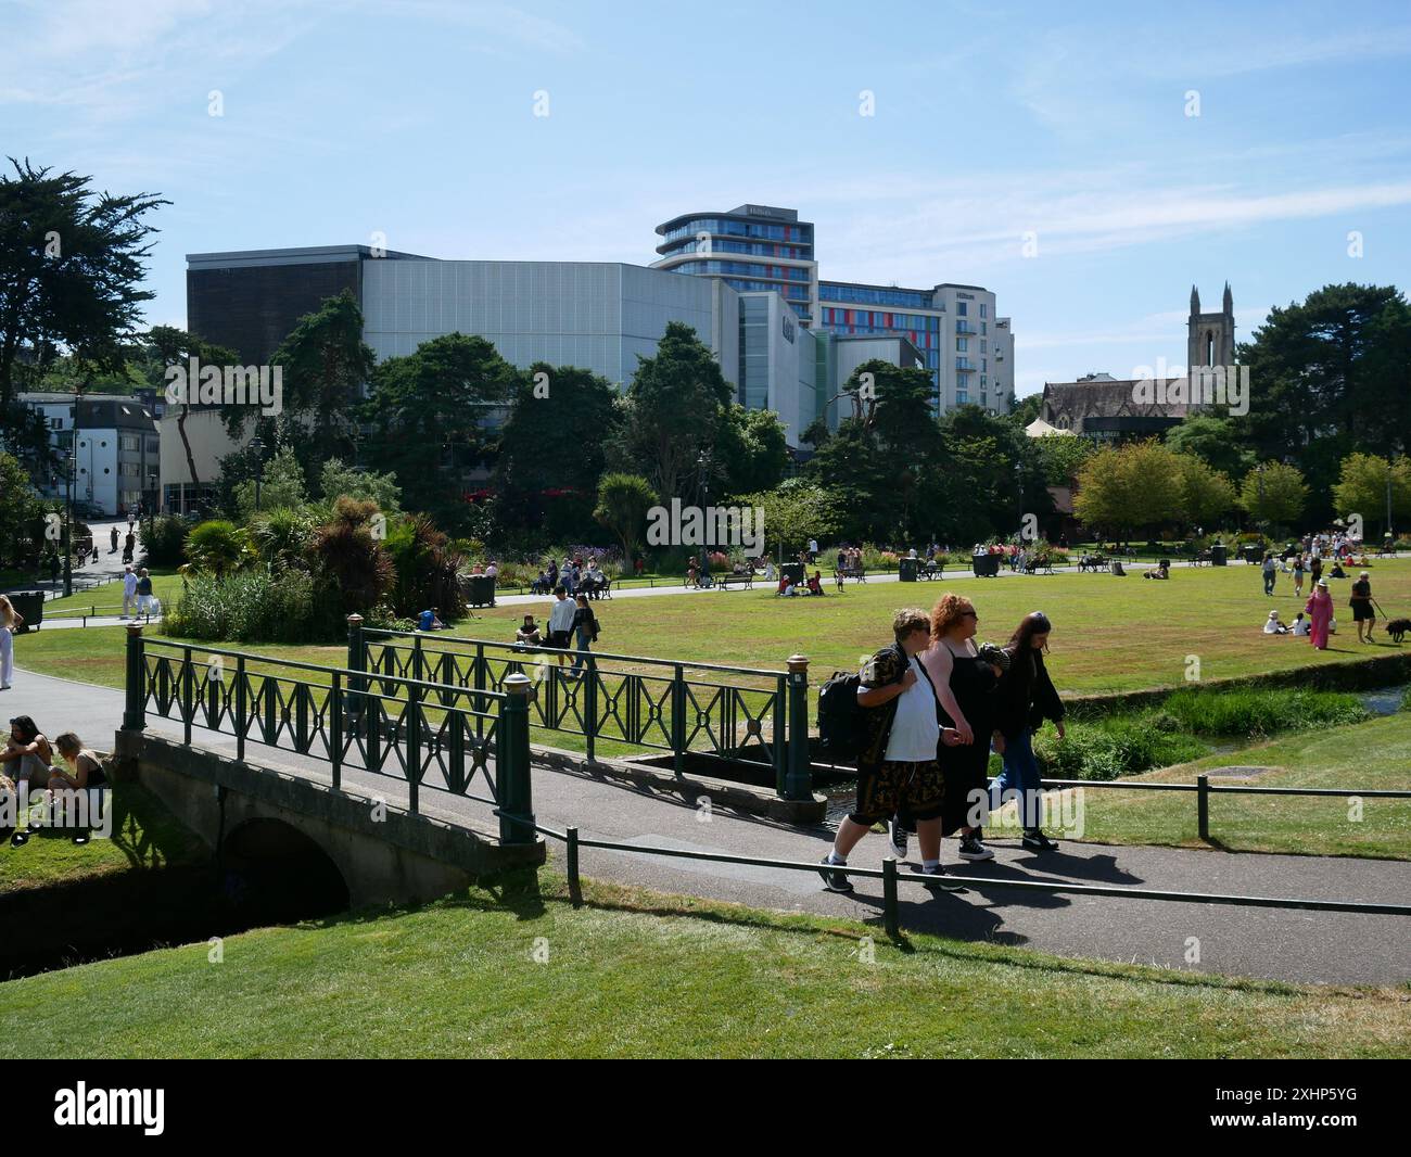
[[[1233, 766], [1268, 770], [1249, 777], [1221, 775]], [[1287, 735], [1133, 779], [1195, 783], [1201, 773], [1212, 785], [1242, 787], [1411, 790], [1411, 713]], [[1084, 840], [1206, 847], [1198, 835], [1194, 792], [1095, 787], [1082, 794]], [[1065, 814], [1061, 806], [1055, 814]], [[1071, 804], [1067, 814], [1075, 814]], [[1216, 794], [1211, 797], [1211, 838], [1230, 851], [1411, 859], [1411, 800], [1369, 799], [1357, 813], [1346, 799]]]

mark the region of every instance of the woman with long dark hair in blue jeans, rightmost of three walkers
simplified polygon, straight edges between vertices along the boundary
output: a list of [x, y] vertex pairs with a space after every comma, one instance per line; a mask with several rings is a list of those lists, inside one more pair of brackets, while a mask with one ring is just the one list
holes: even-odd
[[1017, 794], [1026, 848], [1051, 852], [1058, 845], [1040, 827], [1038, 762], [1034, 759], [1034, 732], [1044, 720], [1053, 720], [1058, 738], [1064, 738], [1062, 700], [1044, 667], [1048, 632], [1053, 624], [1041, 611], [1026, 615], [1006, 650], [1009, 670], [999, 679], [995, 693], [995, 749], [1005, 761], [1005, 770], [991, 783], [992, 808], [1007, 794]]

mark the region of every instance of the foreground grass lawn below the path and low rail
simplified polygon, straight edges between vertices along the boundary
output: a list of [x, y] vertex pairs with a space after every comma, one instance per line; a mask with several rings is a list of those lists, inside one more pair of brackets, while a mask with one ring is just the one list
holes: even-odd
[[[1407, 988], [1205, 976], [563, 882], [0, 985], [4, 1057], [1404, 1057]], [[542, 961], [542, 962], [540, 962]], [[35, 1009], [65, 1009], [62, 1017]]]

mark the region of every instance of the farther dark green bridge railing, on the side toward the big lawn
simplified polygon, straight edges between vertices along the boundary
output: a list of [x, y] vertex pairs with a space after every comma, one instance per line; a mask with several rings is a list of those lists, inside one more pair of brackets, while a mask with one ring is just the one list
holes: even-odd
[[[579, 659], [579, 670], [559, 656]], [[425, 680], [456, 691], [495, 691], [531, 674], [529, 725], [580, 735], [587, 758], [600, 744], [670, 752], [687, 762], [749, 762], [773, 772], [782, 799], [813, 796], [809, 758], [809, 660], [787, 670], [687, 663], [607, 652], [553, 650], [490, 639], [364, 628], [349, 618], [349, 669], [382, 679]]]

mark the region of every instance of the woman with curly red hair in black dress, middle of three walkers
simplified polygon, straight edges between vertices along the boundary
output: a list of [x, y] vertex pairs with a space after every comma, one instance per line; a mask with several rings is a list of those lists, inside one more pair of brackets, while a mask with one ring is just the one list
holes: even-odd
[[979, 658], [975, 629], [979, 618], [968, 598], [941, 595], [931, 611], [931, 646], [921, 666], [931, 677], [941, 721], [959, 732], [957, 746], [940, 749], [945, 779], [941, 835], [959, 832], [961, 859], [993, 859], [981, 841], [989, 803], [989, 742], [995, 731], [995, 687], [999, 667]]

